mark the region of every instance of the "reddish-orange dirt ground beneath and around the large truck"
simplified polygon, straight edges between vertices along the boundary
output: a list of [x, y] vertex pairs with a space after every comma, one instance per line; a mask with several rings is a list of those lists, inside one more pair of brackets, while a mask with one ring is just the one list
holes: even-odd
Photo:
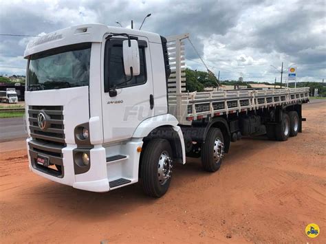
[[217, 173], [188, 159], [161, 199], [138, 184], [100, 194], [56, 184], [30, 173], [25, 150], [2, 151], [0, 242], [326, 243], [326, 103], [303, 115], [287, 142], [233, 143]]

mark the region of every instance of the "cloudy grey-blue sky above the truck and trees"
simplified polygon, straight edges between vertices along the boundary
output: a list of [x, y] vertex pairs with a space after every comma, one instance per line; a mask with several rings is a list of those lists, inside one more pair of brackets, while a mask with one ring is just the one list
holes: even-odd
[[[38, 35], [83, 23], [139, 27], [162, 35], [189, 32], [200, 54], [222, 79], [270, 81], [270, 65], [298, 66], [299, 79], [325, 76], [325, 1], [1, 1], [0, 30]], [[1, 37], [0, 66], [25, 66], [30, 38]], [[187, 45], [187, 57], [197, 60]], [[204, 69], [189, 61], [188, 67]], [[17, 71], [19, 69], [15, 69]], [[0, 73], [8, 71], [0, 67]], [[23, 71], [22, 71], [23, 72]]]

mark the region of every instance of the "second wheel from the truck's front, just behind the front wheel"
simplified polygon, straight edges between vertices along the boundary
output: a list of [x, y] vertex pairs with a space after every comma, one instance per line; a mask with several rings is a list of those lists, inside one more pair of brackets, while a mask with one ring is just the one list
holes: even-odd
[[210, 128], [202, 147], [202, 165], [208, 172], [215, 172], [221, 167], [224, 157], [224, 138], [221, 130]]

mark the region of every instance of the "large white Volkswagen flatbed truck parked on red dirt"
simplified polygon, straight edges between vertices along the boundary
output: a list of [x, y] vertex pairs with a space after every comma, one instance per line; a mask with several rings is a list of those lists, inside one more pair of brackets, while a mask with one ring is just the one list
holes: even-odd
[[308, 88], [186, 91], [186, 38], [89, 24], [31, 41], [30, 170], [94, 192], [141, 181], [161, 197], [186, 157], [215, 172], [242, 135], [265, 129], [285, 141], [301, 132]]

